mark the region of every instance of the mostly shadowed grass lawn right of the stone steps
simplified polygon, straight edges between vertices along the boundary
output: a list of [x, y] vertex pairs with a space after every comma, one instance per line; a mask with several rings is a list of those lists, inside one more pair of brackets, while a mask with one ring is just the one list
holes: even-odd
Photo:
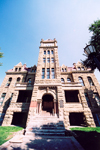
[[70, 128], [85, 150], [100, 150], [100, 127]]

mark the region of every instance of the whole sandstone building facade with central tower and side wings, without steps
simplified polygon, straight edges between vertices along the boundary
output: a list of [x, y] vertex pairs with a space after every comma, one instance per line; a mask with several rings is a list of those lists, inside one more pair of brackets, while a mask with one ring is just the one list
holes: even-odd
[[70, 125], [100, 126], [100, 85], [80, 62], [59, 66], [56, 39], [41, 40], [37, 66], [6, 72], [0, 87], [0, 123], [26, 127], [32, 116], [57, 116]]

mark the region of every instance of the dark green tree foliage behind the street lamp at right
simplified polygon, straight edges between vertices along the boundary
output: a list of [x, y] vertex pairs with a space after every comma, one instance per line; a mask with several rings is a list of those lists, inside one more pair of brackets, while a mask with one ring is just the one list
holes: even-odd
[[[100, 20], [94, 21], [94, 23], [90, 25], [89, 31], [92, 32], [89, 44], [95, 47], [96, 53], [94, 53], [94, 55], [100, 61]], [[92, 70], [97, 68], [97, 64], [91, 54], [83, 61], [83, 64]]]

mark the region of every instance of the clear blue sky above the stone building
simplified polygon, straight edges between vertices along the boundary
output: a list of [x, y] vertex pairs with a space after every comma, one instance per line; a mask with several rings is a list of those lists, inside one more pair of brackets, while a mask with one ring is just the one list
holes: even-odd
[[[58, 41], [60, 66], [85, 59], [88, 27], [98, 19], [100, 0], [0, 0], [0, 84], [19, 62], [37, 65], [42, 38]], [[100, 82], [100, 73], [95, 74]]]

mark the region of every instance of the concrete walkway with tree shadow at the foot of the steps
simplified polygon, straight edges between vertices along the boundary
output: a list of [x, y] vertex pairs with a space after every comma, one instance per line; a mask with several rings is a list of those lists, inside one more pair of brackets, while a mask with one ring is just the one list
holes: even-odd
[[13, 140], [13, 143], [10, 143], [10, 141], [6, 142], [0, 147], [0, 150], [84, 150], [84, 149], [73, 136], [70, 137], [21, 136], [19, 137], [18, 141]]

